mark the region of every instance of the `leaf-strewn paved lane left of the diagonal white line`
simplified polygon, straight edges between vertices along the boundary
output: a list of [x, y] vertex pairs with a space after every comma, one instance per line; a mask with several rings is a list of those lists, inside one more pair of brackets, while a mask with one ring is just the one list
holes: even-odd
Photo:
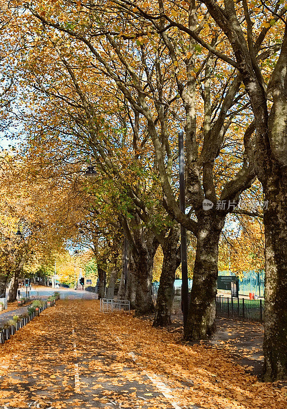
[[[94, 323], [80, 320], [73, 303], [64, 304], [59, 311], [64, 327], [53, 325], [55, 313], [49, 309], [13, 337], [14, 343], [25, 339], [25, 349], [17, 351], [17, 362], [10, 361], [9, 375], [0, 378], [5, 396], [0, 407], [180, 409], [119, 350], [117, 340], [106, 333], [94, 336]], [[32, 326], [36, 343], [29, 337]]]

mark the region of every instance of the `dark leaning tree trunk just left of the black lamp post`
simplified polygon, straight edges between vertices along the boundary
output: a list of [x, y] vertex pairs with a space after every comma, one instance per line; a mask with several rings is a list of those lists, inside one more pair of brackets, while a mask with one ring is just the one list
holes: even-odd
[[179, 234], [179, 228], [172, 228], [169, 236], [166, 237], [165, 242], [161, 245], [163, 262], [157, 292], [153, 327], [164, 327], [171, 324], [175, 272], [180, 265], [180, 256], [177, 249]]

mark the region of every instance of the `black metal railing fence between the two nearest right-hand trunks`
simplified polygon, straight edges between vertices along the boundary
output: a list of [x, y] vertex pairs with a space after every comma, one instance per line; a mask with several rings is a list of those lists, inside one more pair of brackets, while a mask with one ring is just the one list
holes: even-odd
[[264, 322], [264, 301], [217, 296], [216, 312], [218, 316]]

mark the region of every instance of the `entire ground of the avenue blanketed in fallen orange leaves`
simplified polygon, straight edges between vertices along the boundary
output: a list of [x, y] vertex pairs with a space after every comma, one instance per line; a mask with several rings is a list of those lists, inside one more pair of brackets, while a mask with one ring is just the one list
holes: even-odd
[[0, 346], [0, 408], [283, 409], [225, 352], [180, 339], [98, 301], [61, 301]]

